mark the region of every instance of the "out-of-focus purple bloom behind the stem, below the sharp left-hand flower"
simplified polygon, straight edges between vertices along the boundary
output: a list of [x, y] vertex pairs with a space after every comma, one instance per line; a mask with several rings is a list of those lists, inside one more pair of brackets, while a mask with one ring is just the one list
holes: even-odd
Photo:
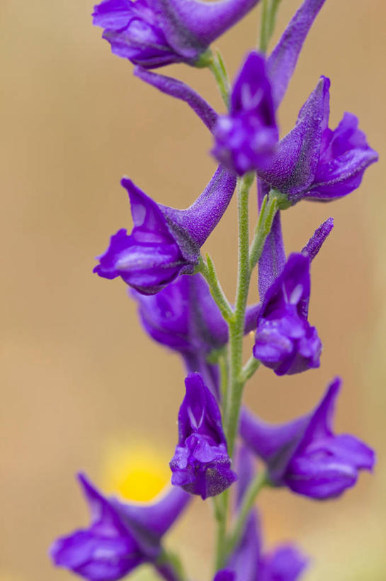
[[[200, 372], [219, 397], [217, 365], [208, 363], [208, 355], [227, 345], [228, 326], [202, 275], [179, 277], [151, 296], [135, 290], [130, 295], [149, 336], [182, 355], [188, 372]], [[259, 310], [260, 304], [246, 309], [244, 333], [256, 328]]]

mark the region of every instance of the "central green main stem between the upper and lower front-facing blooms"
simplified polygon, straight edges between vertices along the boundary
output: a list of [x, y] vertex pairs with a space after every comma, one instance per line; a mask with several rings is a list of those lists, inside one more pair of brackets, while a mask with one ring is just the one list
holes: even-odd
[[239, 179], [237, 188], [237, 211], [239, 223], [239, 251], [237, 291], [234, 319], [229, 321], [229, 359], [230, 382], [227, 402], [227, 444], [232, 458], [234, 442], [237, 436], [239, 411], [242, 401], [244, 382], [242, 379], [242, 341], [244, 336], [244, 319], [246, 299], [248, 298], [251, 272], [249, 270], [249, 189], [254, 181], [254, 174], [246, 174]]

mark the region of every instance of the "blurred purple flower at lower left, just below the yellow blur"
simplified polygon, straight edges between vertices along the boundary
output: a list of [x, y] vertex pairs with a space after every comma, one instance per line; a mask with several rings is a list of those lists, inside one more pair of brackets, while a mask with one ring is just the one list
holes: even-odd
[[103, 497], [84, 475], [79, 482], [91, 524], [55, 541], [50, 549], [55, 565], [89, 581], [118, 580], [142, 563], [158, 567], [161, 537], [186, 507], [189, 495], [171, 489], [156, 504], [125, 504]]

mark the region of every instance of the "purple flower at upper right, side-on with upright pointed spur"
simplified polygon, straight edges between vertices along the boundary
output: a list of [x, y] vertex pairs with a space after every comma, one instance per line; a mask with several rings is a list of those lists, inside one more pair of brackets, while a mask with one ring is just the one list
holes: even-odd
[[329, 79], [321, 77], [295, 128], [280, 140], [270, 167], [259, 172], [290, 205], [350, 194], [361, 184], [366, 167], [378, 160], [356, 116], [346, 113], [334, 131], [329, 129], [329, 87]]

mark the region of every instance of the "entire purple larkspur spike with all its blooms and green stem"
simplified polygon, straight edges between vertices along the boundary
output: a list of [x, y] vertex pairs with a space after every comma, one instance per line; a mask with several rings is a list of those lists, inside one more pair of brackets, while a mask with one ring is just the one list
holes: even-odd
[[[134, 63], [137, 77], [186, 102], [203, 121], [213, 138], [210, 153], [220, 165], [203, 193], [183, 210], [160, 204], [124, 177], [132, 231], [120, 228], [113, 234], [94, 268], [100, 277], [119, 277], [130, 287], [144, 331], [182, 358], [187, 377], [170, 461], [171, 488], [163, 497], [153, 504], [106, 498], [79, 475], [91, 524], [57, 539], [50, 554], [56, 565], [90, 581], [121, 579], [142, 563], [153, 565], [166, 580], [188, 579], [162, 538], [193, 495], [215, 497], [213, 581], [295, 581], [308, 560], [290, 543], [263, 549], [255, 506], [260, 489], [286, 487], [327, 500], [353, 487], [359, 471], [372, 470], [375, 463], [365, 443], [334, 433], [339, 378], [314, 411], [283, 425], [268, 424], [242, 405], [244, 384], [259, 365], [278, 376], [320, 365], [322, 341], [309, 321], [310, 271], [334, 221], [324, 221], [304, 248], [288, 256], [283, 211], [302, 199], [345, 197], [378, 159], [353, 114], [345, 113], [336, 129], [329, 128], [330, 81], [324, 76], [293, 129], [280, 138], [276, 111], [324, 0], [304, 0], [268, 55], [279, 2], [266, 0], [261, 51], [246, 55], [230, 86], [224, 62], [210, 45], [256, 4], [258, 0], [103, 0], [93, 12], [93, 23], [103, 28], [113, 53]], [[151, 70], [171, 63], [208, 67], [227, 111], [218, 114], [187, 84]], [[249, 189], [255, 176], [259, 220], [249, 241]], [[239, 262], [232, 304], [212, 259], [204, 259], [200, 249], [236, 186]], [[256, 265], [256, 298], [248, 306]], [[246, 333], [254, 334], [248, 363], [243, 360]]]

